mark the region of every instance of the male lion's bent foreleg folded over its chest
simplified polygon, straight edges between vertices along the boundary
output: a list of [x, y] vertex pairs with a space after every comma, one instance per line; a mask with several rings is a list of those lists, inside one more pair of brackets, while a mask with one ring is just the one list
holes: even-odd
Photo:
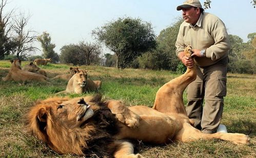
[[106, 105], [121, 123], [132, 128], [139, 126], [140, 116], [128, 109], [121, 101], [110, 100]]

